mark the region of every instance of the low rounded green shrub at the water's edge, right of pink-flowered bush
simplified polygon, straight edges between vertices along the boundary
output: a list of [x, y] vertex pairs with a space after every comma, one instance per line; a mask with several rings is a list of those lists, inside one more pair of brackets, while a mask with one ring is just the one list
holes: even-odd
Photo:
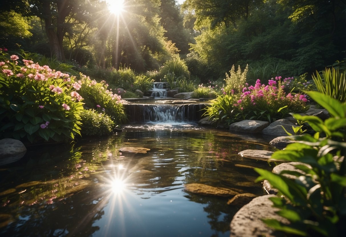
[[108, 135], [114, 128], [114, 122], [104, 113], [95, 110], [82, 110], [82, 135]]

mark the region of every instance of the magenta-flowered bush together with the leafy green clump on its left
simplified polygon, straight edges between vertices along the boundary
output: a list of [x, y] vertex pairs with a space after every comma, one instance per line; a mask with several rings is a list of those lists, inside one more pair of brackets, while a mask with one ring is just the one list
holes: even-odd
[[226, 124], [244, 119], [273, 122], [290, 112], [306, 112], [306, 102], [306, 95], [286, 94], [281, 77], [272, 78], [268, 85], [261, 84], [258, 79], [254, 86], [243, 87], [241, 93], [218, 96], [211, 101], [204, 115], [213, 122]]

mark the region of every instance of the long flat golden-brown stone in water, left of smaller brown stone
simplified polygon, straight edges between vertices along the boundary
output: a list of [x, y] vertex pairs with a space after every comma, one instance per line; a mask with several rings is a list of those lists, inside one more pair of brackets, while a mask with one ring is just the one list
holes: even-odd
[[239, 194], [239, 190], [234, 191], [228, 188], [212, 187], [206, 184], [190, 183], [185, 184], [185, 190], [193, 193], [208, 196], [230, 197]]

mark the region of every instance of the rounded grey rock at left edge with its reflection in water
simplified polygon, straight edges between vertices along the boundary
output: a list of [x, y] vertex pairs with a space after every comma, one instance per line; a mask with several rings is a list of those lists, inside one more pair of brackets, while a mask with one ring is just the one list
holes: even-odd
[[25, 153], [26, 148], [21, 141], [11, 138], [0, 140], [0, 165], [18, 161]]

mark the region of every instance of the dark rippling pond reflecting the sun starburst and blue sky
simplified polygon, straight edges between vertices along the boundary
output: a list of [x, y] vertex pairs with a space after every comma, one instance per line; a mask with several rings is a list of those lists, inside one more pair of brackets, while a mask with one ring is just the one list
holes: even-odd
[[[122, 147], [151, 149], [129, 155]], [[1, 236], [229, 236], [241, 206], [184, 189], [201, 183], [262, 195], [238, 155], [273, 150], [261, 138], [191, 123], [131, 124], [74, 145], [32, 146], [0, 167]]]

